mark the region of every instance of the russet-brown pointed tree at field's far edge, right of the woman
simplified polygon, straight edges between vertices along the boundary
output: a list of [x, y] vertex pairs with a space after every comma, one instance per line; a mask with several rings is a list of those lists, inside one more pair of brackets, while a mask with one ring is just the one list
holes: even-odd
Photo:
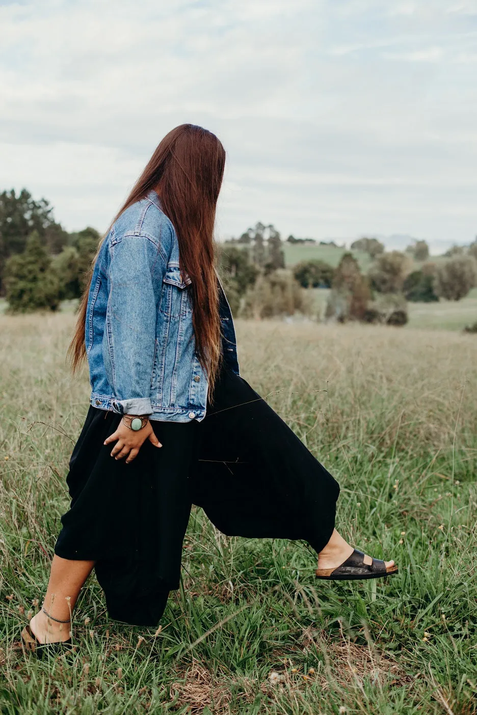
[[369, 300], [368, 281], [361, 275], [358, 261], [353, 254], [344, 253], [333, 277], [325, 316], [340, 322], [363, 320]]

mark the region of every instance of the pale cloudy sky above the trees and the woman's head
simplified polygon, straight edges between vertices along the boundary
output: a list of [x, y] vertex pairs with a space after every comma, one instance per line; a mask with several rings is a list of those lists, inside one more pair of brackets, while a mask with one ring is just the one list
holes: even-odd
[[169, 129], [227, 151], [217, 237], [477, 234], [477, 0], [0, 0], [0, 190], [103, 231]]

